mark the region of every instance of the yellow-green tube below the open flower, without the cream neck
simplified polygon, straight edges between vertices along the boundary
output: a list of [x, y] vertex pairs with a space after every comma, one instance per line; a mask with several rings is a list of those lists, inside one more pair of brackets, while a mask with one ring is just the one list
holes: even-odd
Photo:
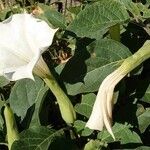
[[44, 78], [43, 80], [55, 95], [62, 118], [65, 120], [66, 123], [73, 123], [76, 119], [76, 113], [68, 96], [60, 88], [52, 74], [49, 77]]

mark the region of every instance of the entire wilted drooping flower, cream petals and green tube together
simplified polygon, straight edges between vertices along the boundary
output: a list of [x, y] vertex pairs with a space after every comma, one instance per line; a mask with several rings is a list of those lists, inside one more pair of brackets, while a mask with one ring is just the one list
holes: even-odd
[[115, 140], [111, 128], [114, 88], [123, 77], [148, 58], [150, 58], [150, 41], [145, 42], [143, 47], [126, 58], [118, 69], [103, 80], [86, 127], [99, 131], [105, 127]]

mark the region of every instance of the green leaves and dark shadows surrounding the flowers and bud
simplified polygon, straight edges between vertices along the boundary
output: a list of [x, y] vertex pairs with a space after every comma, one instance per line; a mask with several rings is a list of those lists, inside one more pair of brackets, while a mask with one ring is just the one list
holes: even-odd
[[[149, 0], [0, 1], [1, 21], [25, 8], [59, 27], [43, 57], [77, 112], [75, 123], [67, 125], [55, 97], [40, 78], [9, 83], [1, 77], [1, 97], [13, 109], [21, 137], [12, 150], [150, 149], [149, 60], [115, 89], [113, 132], [117, 140], [106, 130], [85, 128], [103, 79], [149, 40], [149, 6]], [[118, 25], [120, 38], [113, 36]], [[3, 101], [0, 149], [7, 149]]]

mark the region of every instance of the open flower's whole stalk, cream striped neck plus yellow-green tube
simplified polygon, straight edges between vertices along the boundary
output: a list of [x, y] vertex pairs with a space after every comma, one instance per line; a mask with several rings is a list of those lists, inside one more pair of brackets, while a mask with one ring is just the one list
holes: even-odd
[[64, 121], [66, 123], [74, 123], [76, 119], [76, 113], [74, 111], [73, 105], [68, 96], [57, 83], [55, 77], [52, 75], [51, 71], [49, 70], [47, 64], [42, 57], [36, 64], [33, 72], [44, 80], [46, 85], [55, 95], [60, 108], [61, 116]]

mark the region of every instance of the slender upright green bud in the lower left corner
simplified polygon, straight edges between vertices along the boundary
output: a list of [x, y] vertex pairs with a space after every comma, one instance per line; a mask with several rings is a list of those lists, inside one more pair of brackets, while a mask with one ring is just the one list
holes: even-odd
[[7, 128], [8, 148], [11, 150], [13, 142], [19, 140], [19, 133], [13, 111], [7, 104], [5, 104], [4, 108], [4, 118]]

